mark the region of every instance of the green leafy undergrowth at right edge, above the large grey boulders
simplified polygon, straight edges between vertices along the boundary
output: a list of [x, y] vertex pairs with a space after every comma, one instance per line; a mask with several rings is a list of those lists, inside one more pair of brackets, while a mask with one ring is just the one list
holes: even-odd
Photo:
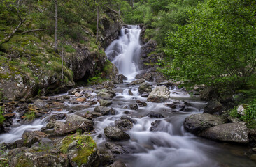
[[243, 107], [246, 109], [245, 113], [237, 113], [237, 107], [229, 110], [229, 115], [233, 118], [239, 118], [239, 120], [246, 122], [247, 127], [256, 128], [256, 99], [252, 100], [248, 104], [243, 104]]

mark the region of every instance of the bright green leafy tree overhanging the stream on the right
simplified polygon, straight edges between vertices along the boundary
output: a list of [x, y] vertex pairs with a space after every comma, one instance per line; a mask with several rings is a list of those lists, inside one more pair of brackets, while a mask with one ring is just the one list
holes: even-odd
[[190, 12], [189, 24], [166, 38], [162, 71], [191, 84], [235, 90], [256, 67], [255, 1], [210, 0]]

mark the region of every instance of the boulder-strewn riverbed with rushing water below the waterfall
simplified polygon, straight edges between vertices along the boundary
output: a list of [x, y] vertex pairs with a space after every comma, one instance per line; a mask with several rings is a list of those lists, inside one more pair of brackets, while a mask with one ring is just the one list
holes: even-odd
[[145, 79], [9, 102], [1, 164], [255, 166], [252, 129], [202, 113], [206, 104], [175, 84]]

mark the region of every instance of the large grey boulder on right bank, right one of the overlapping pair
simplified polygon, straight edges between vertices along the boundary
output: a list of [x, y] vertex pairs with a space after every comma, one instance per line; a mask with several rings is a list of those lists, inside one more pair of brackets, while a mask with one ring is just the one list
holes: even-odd
[[201, 132], [199, 136], [215, 141], [231, 141], [236, 143], [249, 142], [247, 127], [241, 123], [216, 125]]

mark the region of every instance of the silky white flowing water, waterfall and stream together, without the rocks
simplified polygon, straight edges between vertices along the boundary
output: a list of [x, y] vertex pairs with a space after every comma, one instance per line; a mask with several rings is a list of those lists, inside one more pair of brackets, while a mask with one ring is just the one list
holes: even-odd
[[[170, 98], [164, 103], [148, 102], [146, 97], [138, 93], [138, 85], [129, 85], [134, 81], [138, 73], [138, 55], [141, 48], [139, 42], [140, 29], [138, 26], [127, 26], [121, 31], [121, 36], [115, 40], [107, 49], [106, 55], [117, 65], [121, 74], [127, 76], [124, 84], [115, 84], [113, 88], [116, 96], [112, 99], [112, 107], [115, 115], [108, 114], [93, 119], [94, 132], [90, 134], [97, 143], [98, 148], [105, 148], [108, 138], [104, 135], [104, 128], [114, 126], [115, 120], [122, 116], [129, 116], [136, 120], [132, 129], [126, 131], [131, 137], [129, 141], [115, 142], [127, 151], [127, 154], [117, 154], [116, 159], [125, 162], [129, 167], [217, 167], [217, 166], [256, 166], [255, 162], [246, 156], [249, 150], [244, 145], [231, 145], [229, 143], [218, 143], [199, 138], [185, 132], [183, 121], [193, 113], [202, 113], [206, 102], [199, 100], [199, 97], [191, 97], [184, 90], [170, 86]], [[129, 58], [127, 58], [127, 56]], [[152, 88], [156, 83], [149, 83]], [[130, 91], [129, 91], [130, 90]], [[92, 93], [91, 100], [97, 101], [96, 93]], [[94, 111], [99, 102], [85, 109], [79, 109], [81, 104], [73, 104], [74, 95], [62, 94], [49, 97], [43, 100], [48, 103], [50, 99], [64, 98], [62, 111], [52, 111], [48, 116], [36, 119], [29, 124], [20, 122], [19, 113], [13, 118], [13, 126], [9, 133], [0, 134], [0, 143], [13, 143], [20, 139], [25, 130], [40, 130], [47, 125], [50, 116], [55, 113], [85, 114]], [[146, 102], [147, 106], [138, 106], [138, 109], [131, 110], [129, 105], [136, 104], [136, 101]], [[83, 102], [83, 105], [88, 102]], [[175, 109], [166, 106], [177, 104]], [[71, 112], [72, 111], [72, 112]], [[164, 118], [150, 118], [151, 112], [161, 113]], [[62, 120], [65, 121], [65, 120]], [[154, 131], [150, 130], [153, 122], [159, 122]]]

